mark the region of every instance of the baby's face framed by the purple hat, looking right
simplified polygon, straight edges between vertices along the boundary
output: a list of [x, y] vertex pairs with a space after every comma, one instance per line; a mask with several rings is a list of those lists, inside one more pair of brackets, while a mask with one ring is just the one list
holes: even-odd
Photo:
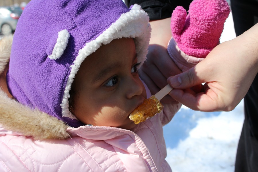
[[132, 38], [116, 39], [88, 56], [75, 79], [74, 109], [84, 124], [130, 130], [130, 113], [146, 98]]

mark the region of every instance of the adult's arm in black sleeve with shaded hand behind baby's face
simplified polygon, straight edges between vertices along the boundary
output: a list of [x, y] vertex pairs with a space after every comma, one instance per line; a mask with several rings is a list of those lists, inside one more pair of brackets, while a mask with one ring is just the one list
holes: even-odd
[[[125, 0], [128, 7], [135, 3], [141, 5], [142, 9], [150, 17], [152, 28], [150, 45], [148, 48], [147, 60], [139, 70], [141, 79], [148, 85], [152, 95], [156, 94], [165, 85], [167, 78], [181, 73], [174, 61], [169, 57], [167, 45], [171, 39], [171, 14], [177, 5], [189, 8], [191, 0], [173, 1], [170, 0]], [[178, 104], [171, 96], [167, 95], [162, 103]]]

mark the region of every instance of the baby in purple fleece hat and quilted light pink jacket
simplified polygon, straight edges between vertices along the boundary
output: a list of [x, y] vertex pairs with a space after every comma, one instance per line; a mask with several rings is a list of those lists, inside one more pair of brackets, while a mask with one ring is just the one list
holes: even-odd
[[0, 49], [0, 171], [171, 171], [162, 126], [180, 106], [129, 119], [151, 95], [148, 20], [121, 0], [30, 1], [10, 61]]

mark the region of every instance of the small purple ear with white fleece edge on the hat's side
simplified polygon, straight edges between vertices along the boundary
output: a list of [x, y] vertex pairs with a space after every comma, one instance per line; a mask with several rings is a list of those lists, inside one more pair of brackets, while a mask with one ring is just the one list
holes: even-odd
[[52, 36], [50, 38], [46, 53], [48, 54], [48, 58], [50, 59], [58, 59], [64, 53], [64, 50], [68, 44], [68, 40], [70, 38], [69, 32], [64, 29], [58, 32], [58, 37]]

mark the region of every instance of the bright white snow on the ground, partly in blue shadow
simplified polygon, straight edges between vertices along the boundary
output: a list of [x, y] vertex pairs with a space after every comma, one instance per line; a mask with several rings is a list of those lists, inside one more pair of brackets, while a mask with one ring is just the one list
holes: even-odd
[[[230, 13], [220, 42], [235, 38]], [[233, 172], [244, 120], [243, 100], [231, 112], [198, 112], [183, 106], [163, 127], [173, 172]]]

